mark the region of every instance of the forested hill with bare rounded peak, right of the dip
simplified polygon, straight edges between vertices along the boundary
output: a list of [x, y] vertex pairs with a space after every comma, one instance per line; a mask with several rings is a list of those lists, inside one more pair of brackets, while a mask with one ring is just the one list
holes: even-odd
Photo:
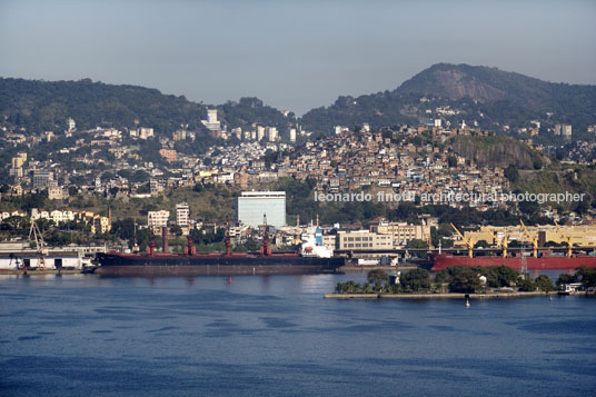
[[[596, 86], [553, 83], [497, 68], [438, 63], [393, 91], [357, 98], [339, 97], [327, 108], [312, 109], [301, 121], [328, 132], [335, 125], [386, 127], [433, 117], [436, 107], [461, 110], [453, 122], [477, 120], [479, 127], [527, 127], [538, 119], [568, 122], [574, 130], [596, 123]], [[428, 113], [427, 110], [433, 112]], [[546, 113], [553, 113], [547, 117]]]

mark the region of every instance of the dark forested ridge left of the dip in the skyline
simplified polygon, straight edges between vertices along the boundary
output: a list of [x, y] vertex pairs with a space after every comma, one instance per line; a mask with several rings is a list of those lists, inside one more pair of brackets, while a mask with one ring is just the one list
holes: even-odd
[[230, 128], [254, 122], [285, 127], [288, 118], [279, 110], [265, 106], [258, 98], [241, 98], [215, 107], [196, 103], [185, 97], [161, 93], [157, 89], [79, 81], [42, 81], [0, 78], [0, 116], [9, 126], [23, 127], [29, 132], [66, 129], [69, 117], [77, 128], [153, 127], [156, 132], [170, 133], [188, 125], [202, 130], [200, 120], [207, 108], [217, 108], [218, 117]]

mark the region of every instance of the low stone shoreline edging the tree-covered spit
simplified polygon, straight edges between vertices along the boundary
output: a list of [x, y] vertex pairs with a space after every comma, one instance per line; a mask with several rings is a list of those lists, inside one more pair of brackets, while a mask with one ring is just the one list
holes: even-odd
[[[532, 292], [490, 292], [490, 294], [325, 294], [325, 299], [511, 299], [529, 298], [539, 296], [557, 296], [558, 291], [532, 291]], [[587, 296], [586, 291], [572, 294], [573, 296]]]

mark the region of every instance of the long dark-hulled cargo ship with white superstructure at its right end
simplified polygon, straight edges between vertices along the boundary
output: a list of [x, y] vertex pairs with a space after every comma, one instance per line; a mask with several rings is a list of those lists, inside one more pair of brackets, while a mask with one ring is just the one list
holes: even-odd
[[226, 234], [226, 252], [197, 254], [188, 237], [183, 254], [169, 254], [166, 230], [162, 231], [162, 252], [156, 252], [151, 238], [145, 254], [98, 252], [102, 276], [235, 276], [235, 275], [305, 275], [335, 272], [346, 265], [346, 258], [331, 250], [302, 244], [300, 252], [272, 252], [267, 232], [260, 252], [231, 252], [229, 232]]

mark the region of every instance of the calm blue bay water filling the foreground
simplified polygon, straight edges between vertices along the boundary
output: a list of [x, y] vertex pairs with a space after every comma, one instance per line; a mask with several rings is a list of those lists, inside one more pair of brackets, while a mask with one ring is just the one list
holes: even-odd
[[2, 395], [592, 395], [596, 299], [322, 299], [362, 275], [0, 277]]

